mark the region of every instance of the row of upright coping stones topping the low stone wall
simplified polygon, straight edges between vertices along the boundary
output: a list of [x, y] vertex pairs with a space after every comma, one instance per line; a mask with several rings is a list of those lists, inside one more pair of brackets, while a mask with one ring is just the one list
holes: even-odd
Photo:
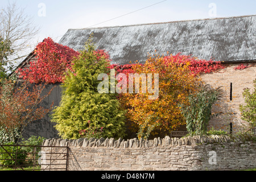
[[203, 143], [225, 143], [232, 142], [228, 135], [210, 135], [210, 136], [193, 136], [184, 138], [163, 139], [154, 138], [152, 140], [144, 139], [114, 139], [114, 138], [79, 138], [79, 139], [60, 139], [52, 138], [43, 141], [43, 146], [68, 146], [68, 147], [109, 147], [109, 148], [149, 148], [149, 147], [166, 147], [166, 146], [189, 146]]

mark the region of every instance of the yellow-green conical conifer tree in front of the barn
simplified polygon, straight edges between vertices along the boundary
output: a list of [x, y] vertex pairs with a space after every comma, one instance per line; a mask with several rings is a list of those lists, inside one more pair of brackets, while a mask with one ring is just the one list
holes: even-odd
[[99, 57], [89, 39], [85, 50], [73, 60], [74, 72], [68, 71], [65, 76], [60, 106], [52, 114], [52, 122], [56, 122], [56, 130], [62, 138], [77, 139], [82, 137], [81, 130], [92, 129], [102, 129], [98, 137], [125, 136], [125, 111], [120, 107], [117, 94], [97, 90], [101, 82], [97, 80], [98, 75], [110, 73], [109, 61]]

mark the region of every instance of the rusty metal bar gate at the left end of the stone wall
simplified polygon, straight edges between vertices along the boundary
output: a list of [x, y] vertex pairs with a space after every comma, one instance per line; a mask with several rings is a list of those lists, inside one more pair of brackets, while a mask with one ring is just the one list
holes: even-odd
[[23, 171], [68, 171], [68, 147], [0, 144], [0, 166]]

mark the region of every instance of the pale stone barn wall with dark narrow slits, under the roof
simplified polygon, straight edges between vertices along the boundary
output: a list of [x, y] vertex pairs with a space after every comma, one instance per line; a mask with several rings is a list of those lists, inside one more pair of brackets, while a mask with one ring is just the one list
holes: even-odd
[[[205, 84], [210, 84], [213, 88], [222, 86], [224, 89], [224, 98], [221, 102], [217, 102], [213, 106], [213, 113], [217, 114], [216, 118], [212, 118], [209, 122], [209, 129], [214, 127], [216, 130], [224, 130], [230, 132], [230, 122], [232, 123], [232, 133], [240, 131], [242, 126], [246, 126], [247, 122], [241, 119], [240, 104], [245, 104], [242, 96], [244, 88], [254, 88], [253, 81], [256, 79], [256, 67], [253, 63], [246, 69], [234, 68], [241, 63], [227, 63], [227, 67], [215, 73], [205, 73], [201, 75]], [[246, 65], [247, 63], [243, 63]], [[230, 93], [232, 98], [230, 100]]]

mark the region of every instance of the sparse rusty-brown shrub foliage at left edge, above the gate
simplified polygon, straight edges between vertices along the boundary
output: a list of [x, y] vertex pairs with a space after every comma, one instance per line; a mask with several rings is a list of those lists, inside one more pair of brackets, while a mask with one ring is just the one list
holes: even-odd
[[35, 85], [31, 88], [29, 82], [17, 86], [11, 80], [6, 80], [0, 86], [0, 129], [11, 142], [21, 137], [28, 123], [43, 118], [51, 110], [51, 107], [39, 106], [51, 92], [43, 94], [45, 86]]

